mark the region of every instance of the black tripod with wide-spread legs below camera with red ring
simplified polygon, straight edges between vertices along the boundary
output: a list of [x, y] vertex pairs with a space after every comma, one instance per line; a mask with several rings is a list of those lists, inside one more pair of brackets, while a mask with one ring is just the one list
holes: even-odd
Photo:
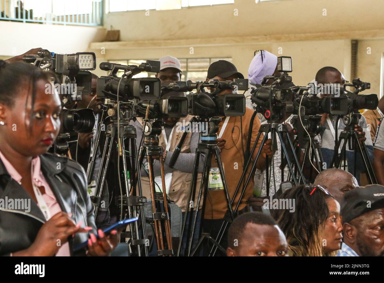
[[[240, 180], [238, 182], [238, 185], [236, 187], [235, 194], [233, 195], [232, 202], [231, 202], [231, 205], [230, 205], [231, 208], [232, 208], [234, 200], [237, 198], [238, 192], [240, 191], [240, 186], [243, 183], [245, 175], [247, 174], [248, 167], [251, 164], [251, 157], [252, 157], [253, 153], [255, 152], [255, 149], [256, 149], [256, 146], [257, 146], [257, 144], [258, 144], [258, 142], [260, 140], [261, 134], [264, 133], [264, 136], [263, 136], [263, 139], [262, 139], [262, 142], [261, 142], [261, 146], [259, 147], [259, 149], [257, 151], [257, 155], [256, 155], [256, 158], [255, 158], [255, 161], [253, 161], [253, 164], [252, 164], [252, 169], [250, 171], [250, 174], [248, 175], [247, 180], [245, 181], [245, 184], [242, 187], [242, 190], [241, 190], [241, 193], [240, 193], [240, 198], [239, 198], [239, 200], [238, 200], [238, 202], [236, 204], [235, 209], [233, 210], [233, 213], [236, 213], [238, 211], [238, 208], [240, 206], [241, 200], [243, 199], [243, 196], [245, 194], [245, 190], [246, 190], [246, 188], [248, 186], [248, 183], [249, 183], [249, 181], [250, 181], [250, 179], [252, 177], [252, 172], [254, 172], [256, 164], [257, 164], [257, 161], [260, 158], [260, 155], [261, 155], [261, 152], [262, 152], [262, 145], [265, 143], [265, 141], [268, 138], [268, 133], [271, 133], [271, 137], [272, 137], [273, 140], [276, 139], [276, 135], [279, 137], [279, 140], [280, 140], [280, 143], [281, 143], [281, 149], [282, 149], [281, 155], [284, 154], [284, 156], [286, 157], [286, 160], [287, 160], [287, 164], [288, 164], [290, 173], [291, 173], [292, 176], [295, 176], [294, 171], [293, 171], [293, 167], [292, 167], [292, 163], [290, 161], [291, 159], [288, 156], [288, 151], [287, 151], [287, 149], [285, 147], [285, 143], [284, 143], [284, 136], [286, 136], [286, 139], [288, 140], [288, 143], [290, 145], [290, 150], [291, 150], [290, 152], [292, 153], [293, 159], [295, 161], [295, 169], [297, 169], [297, 171], [299, 173], [300, 180], [302, 180], [304, 182], [304, 184], [306, 182], [305, 177], [304, 177], [303, 172], [302, 172], [301, 167], [300, 167], [299, 160], [298, 160], [298, 158], [296, 156], [296, 153], [295, 153], [295, 150], [293, 148], [293, 144], [292, 144], [291, 139], [289, 137], [288, 129], [287, 129], [285, 124], [281, 124], [281, 122], [280, 122], [281, 119], [283, 118], [282, 111], [276, 110], [276, 112], [275, 111], [272, 112], [270, 110], [267, 110], [265, 112], [264, 116], [267, 119], [267, 124], [263, 124], [263, 125], [260, 126], [260, 129], [259, 129], [256, 141], [255, 141], [255, 144], [253, 145], [252, 151], [250, 153], [250, 157], [248, 158], [246, 164], [244, 165], [243, 173], [242, 173], [242, 175], [240, 177]], [[275, 149], [273, 149], [273, 150], [275, 151]], [[268, 157], [267, 157], [266, 158], [266, 172], [268, 172], [268, 170], [269, 170], [269, 168], [268, 168]], [[266, 175], [266, 177], [268, 178], [268, 174]], [[281, 180], [284, 180], [284, 170], [281, 170], [281, 177], [282, 177]], [[293, 177], [293, 181], [295, 182], [295, 185], [298, 185], [299, 182], [300, 182], [295, 177]], [[269, 195], [269, 184], [268, 184], [268, 182], [267, 182], [267, 188], [266, 189], [267, 189], [267, 195]], [[276, 188], [275, 188], [275, 190], [276, 190]], [[216, 242], [217, 243], [221, 242], [222, 237], [223, 237], [223, 235], [225, 233], [225, 230], [227, 229], [229, 223], [230, 223], [230, 221], [229, 221], [229, 219], [228, 219], [228, 217], [226, 215], [224, 217], [223, 223], [222, 223], [222, 225], [220, 227], [220, 230], [219, 230], [217, 238], [216, 238]], [[211, 250], [210, 250], [209, 256], [211, 256], [211, 255], [214, 256], [216, 251], [217, 251], [217, 246], [216, 246], [216, 248], [212, 247]]]

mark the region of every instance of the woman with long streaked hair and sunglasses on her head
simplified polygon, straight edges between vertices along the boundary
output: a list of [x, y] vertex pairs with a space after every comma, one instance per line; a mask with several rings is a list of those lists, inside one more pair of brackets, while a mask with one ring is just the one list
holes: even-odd
[[343, 240], [340, 205], [321, 186], [299, 185], [280, 199], [295, 199], [295, 211], [271, 210], [293, 256], [336, 256]]

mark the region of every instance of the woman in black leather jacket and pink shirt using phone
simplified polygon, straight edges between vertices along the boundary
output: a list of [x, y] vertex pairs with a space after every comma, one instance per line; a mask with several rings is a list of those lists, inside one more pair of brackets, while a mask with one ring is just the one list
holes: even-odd
[[[0, 60], [0, 255], [109, 255], [118, 232], [94, 235], [84, 169], [47, 154], [60, 130], [61, 101], [51, 93], [52, 76]], [[87, 240], [88, 252], [74, 252]]]

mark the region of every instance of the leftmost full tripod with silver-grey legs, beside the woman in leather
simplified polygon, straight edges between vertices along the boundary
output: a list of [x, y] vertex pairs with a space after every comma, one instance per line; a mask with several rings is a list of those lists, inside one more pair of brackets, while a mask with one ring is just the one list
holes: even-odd
[[[129, 111], [131, 104], [126, 102], [119, 102], [118, 109], [119, 111], [116, 111], [114, 113], [118, 113], [122, 111], [125, 111], [124, 113], [127, 113]], [[120, 156], [122, 158], [122, 165], [123, 165], [123, 176], [124, 176], [124, 189], [125, 189], [125, 195], [122, 195], [118, 200], [119, 204], [121, 204], [121, 209], [123, 206], [127, 206], [127, 211], [125, 212], [124, 217], [121, 218], [125, 219], [127, 216], [129, 218], [136, 217], [137, 216], [137, 208], [139, 209], [139, 218], [141, 222], [141, 229], [142, 229], [142, 238], [139, 238], [139, 226], [137, 224], [137, 221], [134, 223], [129, 223], [129, 232], [122, 233], [122, 236], [127, 235], [127, 237], [131, 238], [131, 244], [136, 247], [136, 255], [141, 256], [141, 247], [144, 248], [144, 255], [148, 256], [148, 248], [147, 243], [149, 242], [147, 240], [147, 232], [145, 227], [145, 215], [144, 215], [144, 204], [146, 203], [146, 198], [142, 197], [142, 188], [141, 188], [141, 181], [140, 181], [140, 170], [137, 171], [137, 179], [139, 184], [139, 196], [131, 195], [129, 192], [129, 182], [127, 177], [127, 161], [126, 161], [126, 150], [125, 150], [125, 141], [124, 139], [129, 139], [131, 141], [131, 147], [132, 147], [132, 156], [131, 156], [131, 166], [132, 170], [134, 170], [135, 167], [139, 168], [139, 158], [137, 156], [137, 145], [136, 145], [136, 129], [134, 126], [129, 125], [129, 119], [126, 119], [126, 117], [118, 115], [115, 116], [116, 119], [113, 119], [111, 117], [112, 124], [109, 124], [106, 129], [106, 141], [104, 144], [103, 153], [101, 156], [101, 164], [100, 169], [98, 173], [98, 177], [96, 179], [96, 191], [94, 196], [91, 197], [91, 200], [95, 206], [94, 214], [95, 218], [98, 214], [99, 207], [101, 207], [101, 195], [103, 194], [103, 188], [104, 188], [104, 182], [109, 166], [109, 162], [111, 160], [111, 152], [114, 147], [116, 147], [117, 143], [119, 144], [119, 152], [118, 152], [118, 165], [117, 165], [117, 171], [119, 172], [119, 159]], [[120, 121], [119, 121], [120, 120]], [[105, 121], [105, 120], [104, 120]], [[104, 123], [103, 121], [103, 123]], [[118, 131], [119, 127], [119, 131]], [[99, 147], [100, 142], [100, 133], [101, 133], [101, 127], [99, 127], [98, 135], [96, 138], [96, 143], [94, 146], [94, 154], [91, 159], [91, 162], [88, 166], [87, 170], [87, 179], [89, 182], [89, 179], [93, 175], [94, 170], [94, 164], [95, 164], [95, 158], [96, 158], [96, 151]], [[119, 133], [119, 134], [118, 134]], [[108, 149], [108, 153], [107, 153]], [[121, 189], [121, 182], [120, 182], [121, 175], [119, 175], [119, 186]], [[122, 189], [121, 189], [122, 191]], [[136, 191], [136, 190], [132, 190]], [[121, 220], [122, 220], [121, 219]], [[134, 249], [132, 249], [134, 250]]]

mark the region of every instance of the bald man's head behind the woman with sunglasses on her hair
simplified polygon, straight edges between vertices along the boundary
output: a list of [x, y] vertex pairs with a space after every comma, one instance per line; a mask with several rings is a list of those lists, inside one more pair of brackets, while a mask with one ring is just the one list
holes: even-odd
[[321, 171], [314, 180], [314, 185], [325, 187], [339, 204], [341, 204], [346, 192], [359, 186], [354, 175], [338, 168]]

